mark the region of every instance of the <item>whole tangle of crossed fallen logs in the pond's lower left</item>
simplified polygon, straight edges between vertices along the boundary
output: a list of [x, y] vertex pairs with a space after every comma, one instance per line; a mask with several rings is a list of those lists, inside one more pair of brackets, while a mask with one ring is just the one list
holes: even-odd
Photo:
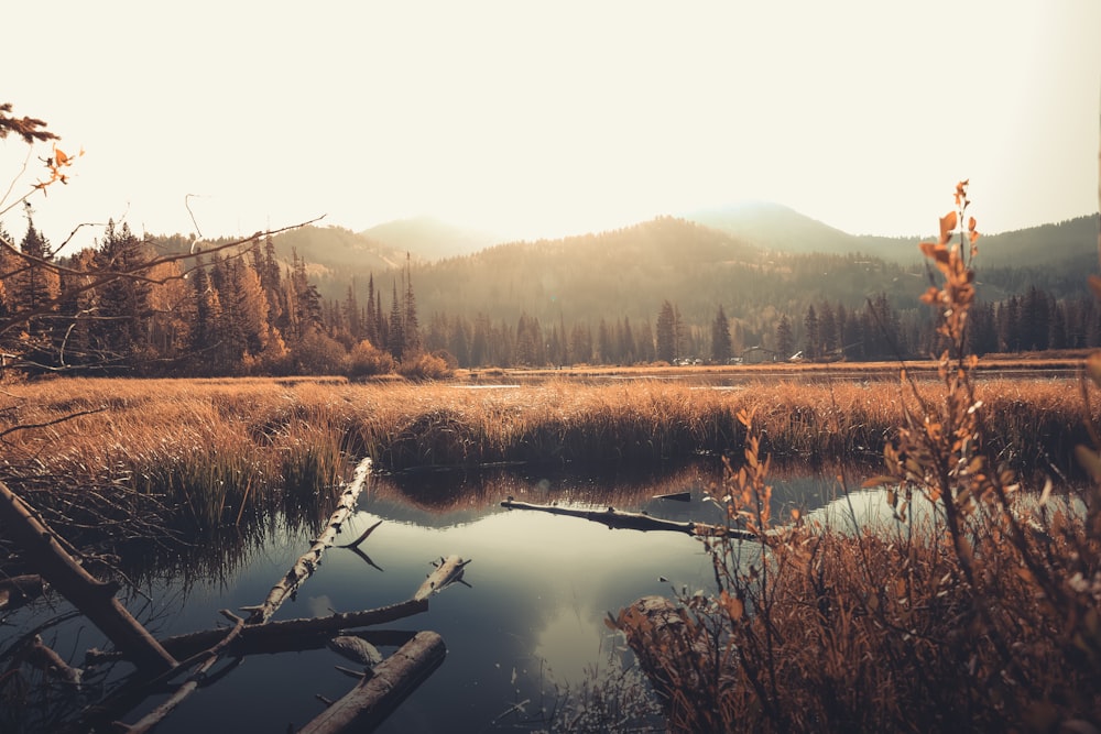
[[[224, 655], [240, 659], [252, 653], [275, 653], [321, 647], [329, 643], [339, 649], [352, 649], [361, 662], [377, 662], [373, 672], [361, 675], [360, 683], [347, 695], [334, 702], [329, 709], [303, 731], [337, 734], [373, 727], [393, 711], [421, 682], [436, 669], [446, 656], [443, 639], [433, 632], [412, 633], [405, 631], [346, 631], [391, 622], [417, 614], [428, 609], [428, 598], [455, 582], [462, 581], [464, 569], [469, 561], [458, 556], [440, 558], [436, 570], [421, 584], [414, 596], [407, 601], [375, 610], [333, 614], [326, 617], [271, 622], [283, 602], [295, 593], [317, 569], [324, 551], [331, 547], [340, 532], [341, 524], [353, 512], [362, 491], [371, 461], [364, 459], [356, 469], [355, 479], [338, 501], [337, 510], [329, 517], [325, 530], [313, 541], [292, 569], [272, 588], [266, 599], [258, 606], [249, 607], [248, 620], [229, 612], [222, 614], [235, 622], [231, 629], [225, 627], [188, 635], [155, 639], [115, 598], [116, 584], [102, 583], [85, 571], [79, 562], [66, 550], [63, 541], [35, 515], [26, 503], [0, 482], [0, 525], [12, 540], [18, 543], [32, 561], [37, 563], [39, 577], [7, 579], [0, 585], [0, 604], [42, 593], [43, 581], [64, 595], [81, 614], [87, 616], [111, 640], [113, 654], [89, 650], [86, 664], [106, 659], [123, 658], [138, 667], [131, 681], [116, 690], [107, 699], [85, 710], [75, 727], [95, 728], [108, 725], [112, 731], [143, 734], [156, 726], [173, 709], [194, 692], [203, 681], [210, 681], [207, 673]], [[378, 527], [378, 523], [367, 529], [357, 540], [349, 544], [352, 550], [363, 555], [359, 545]], [[370, 559], [368, 559], [370, 562]], [[335, 634], [345, 633], [337, 640]], [[355, 635], [349, 637], [349, 635]], [[367, 643], [400, 645], [390, 658], [381, 656]], [[171, 650], [171, 651], [170, 651]], [[79, 681], [79, 670], [69, 668], [52, 650], [36, 640], [30, 648], [35, 662], [54, 670], [55, 673]], [[177, 661], [177, 657], [181, 661]], [[221, 669], [216, 677], [231, 670]], [[120, 716], [132, 710], [148, 695], [171, 682], [174, 678], [192, 670], [188, 678], [163, 703], [148, 713], [141, 721], [128, 726]]]

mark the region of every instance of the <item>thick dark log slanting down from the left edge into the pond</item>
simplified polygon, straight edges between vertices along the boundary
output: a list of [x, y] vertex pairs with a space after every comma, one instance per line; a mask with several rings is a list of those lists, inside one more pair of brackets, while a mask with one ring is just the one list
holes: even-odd
[[88, 573], [34, 516], [30, 505], [0, 482], [0, 525], [42, 577], [95, 624], [139, 669], [163, 672], [176, 665], [159, 642], [115, 598], [116, 584]]

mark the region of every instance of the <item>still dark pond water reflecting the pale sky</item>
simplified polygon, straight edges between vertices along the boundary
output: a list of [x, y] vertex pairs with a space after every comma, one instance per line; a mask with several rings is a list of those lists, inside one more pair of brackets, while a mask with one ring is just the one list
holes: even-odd
[[[470, 559], [464, 577], [469, 585], [454, 584], [432, 598], [428, 612], [385, 625], [439, 633], [447, 658], [379, 731], [545, 727], [549, 722], [542, 711], [560, 702], [567, 689], [576, 690], [612, 660], [631, 665], [619, 636], [603, 624], [607, 614], [645, 594], [711, 589], [711, 561], [699, 541], [680, 533], [612, 530], [574, 517], [503, 510], [501, 500], [614, 505], [669, 519], [721, 522], [718, 506], [706, 501], [708, 491], [721, 496], [720, 478], [717, 460], [656, 479], [503, 471], [374, 478], [338, 538], [338, 544], [351, 543], [383, 521], [360, 548], [370, 562], [348, 549], [329, 549], [320, 569], [275, 618], [405, 601], [433, 570], [433, 560], [451, 554]], [[836, 479], [821, 475], [776, 476], [773, 484], [777, 518], [789, 507], [822, 506], [837, 490]], [[689, 492], [691, 499], [654, 499], [672, 492]], [[308, 528], [284, 524], [252, 543], [229, 544], [224, 554], [212, 554], [215, 561], [206, 554], [204, 563], [150, 570], [144, 591], [151, 601], [139, 616], [159, 637], [219, 626], [219, 610], [262, 601], [310, 539]], [[76, 632], [59, 629], [47, 642], [77, 662], [87, 647], [106, 645], [84, 625]], [[0, 627], [0, 647], [3, 635]], [[220, 666], [225, 675], [156, 731], [297, 728], [321, 711], [316, 695], [335, 700], [355, 684], [337, 666], [355, 667], [328, 649], [249, 656], [235, 668]], [[127, 721], [157, 702], [151, 699]]]

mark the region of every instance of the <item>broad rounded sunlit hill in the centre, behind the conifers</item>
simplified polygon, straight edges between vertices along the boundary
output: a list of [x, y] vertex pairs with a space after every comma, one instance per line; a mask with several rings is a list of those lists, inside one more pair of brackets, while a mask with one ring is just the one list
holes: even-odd
[[[889, 293], [915, 307], [920, 272], [868, 256], [783, 253], [673, 217], [599, 234], [513, 242], [412, 271], [422, 320], [434, 311], [514, 322], [653, 322], [663, 300], [705, 325], [721, 304], [734, 318], [799, 313], [829, 298], [858, 307]], [[378, 283], [380, 278], [375, 276]]]

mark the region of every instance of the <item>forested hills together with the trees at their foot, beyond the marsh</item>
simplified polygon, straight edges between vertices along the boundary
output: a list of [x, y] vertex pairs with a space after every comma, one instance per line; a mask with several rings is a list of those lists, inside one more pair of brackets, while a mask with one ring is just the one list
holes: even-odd
[[[975, 352], [1101, 346], [1101, 318], [1084, 283], [1097, 254], [1092, 243], [1080, 244], [1094, 222], [980, 240], [980, 303], [969, 332]], [[799, 227], [807, 237], [815, 229], [811, 220]], [[831, 234], [838, 242], [841, 235]], [[4, 255], [4, 313], [34, 310], [59, 293], [73, 297], [45, 308], [24, 332], [4, 335], [0, 347], [9, 365], [37, 372], [194, 375], [793, 354], [872, 360], [939, 348], [931, 316], [918, 304], [929, 284], [924, 264], [792, 252], [749, 237], [663, 217], [428, 262], [349, 230], [303, 227], [215, 252], [186, 272], [166, 263], [148, 281], [81, 289], [81, 273], [126, 271], [156, 254], [219, 244], [139, 240], [126, 224], [111, 224], [96, 248], [61, 261], [61, 275]], [[32, 258], [52, 258], [30, 219], [19, 241]], [[1037, 252], [1049, 262], [982, 264], [1028, 263]]]

